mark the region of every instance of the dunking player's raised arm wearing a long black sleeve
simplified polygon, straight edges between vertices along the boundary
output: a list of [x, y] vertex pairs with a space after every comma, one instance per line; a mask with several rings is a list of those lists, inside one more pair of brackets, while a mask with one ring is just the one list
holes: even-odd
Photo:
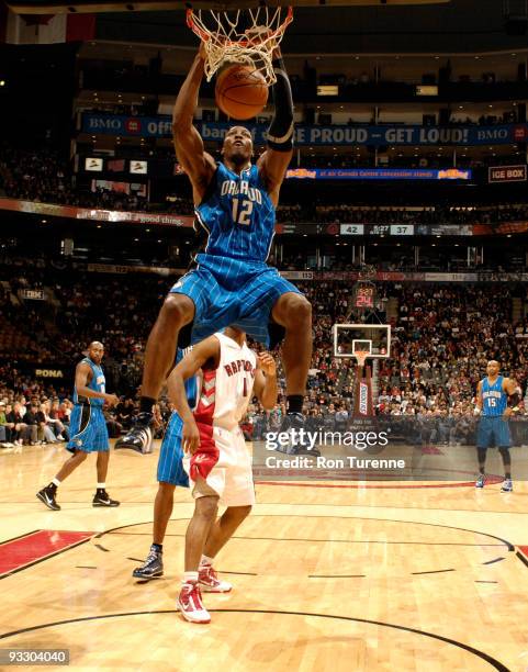
[[279, 191], [293, 154], [293, 100], [292, 89], [280, 48], [273, 54], [277, 82], [271, 92], [274, 115], [268, 128], [268, 149], [258, 160], [258, 168], [273, 205], [279, 202]]

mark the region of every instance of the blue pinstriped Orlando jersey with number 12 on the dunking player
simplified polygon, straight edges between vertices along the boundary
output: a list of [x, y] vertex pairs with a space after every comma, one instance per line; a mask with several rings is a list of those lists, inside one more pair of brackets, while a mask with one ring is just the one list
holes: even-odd
[[195, 213], [209, 235], [206, 254], [246, 261], [268, 258], [276, 211], [257, 166], [237, 175], [220, 163]]

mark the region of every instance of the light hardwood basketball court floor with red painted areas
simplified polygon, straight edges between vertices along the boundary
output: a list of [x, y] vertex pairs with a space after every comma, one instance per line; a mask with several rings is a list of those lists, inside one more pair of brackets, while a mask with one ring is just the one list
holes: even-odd
[[142, 583], [131, 572], [150, 544], [156, 453], [112, 453], [119, 508], [92, 508], [89, 459], [50, 512], [35, 492], [64, 458], [49, 447], [0, 455], [0, 648], [69, 649], [76, 670], [528, 669], [525, 483], [507, 494], [259, 484], [217, 560], [235, 587], [205, 594], [212, 623], [198, 626], [175, 607], [190, 493], [176, 491], [166, 575]]

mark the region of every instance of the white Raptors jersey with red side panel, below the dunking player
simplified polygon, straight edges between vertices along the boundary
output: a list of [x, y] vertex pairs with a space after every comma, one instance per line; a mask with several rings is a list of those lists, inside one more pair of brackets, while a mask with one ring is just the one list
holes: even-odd
[[220, 340], [220, 363], [203, 371], [194, 419], [234, 429], [251, 400], [257, 356], [246, 343], [239, 346], [224, 334], [214, 336]]

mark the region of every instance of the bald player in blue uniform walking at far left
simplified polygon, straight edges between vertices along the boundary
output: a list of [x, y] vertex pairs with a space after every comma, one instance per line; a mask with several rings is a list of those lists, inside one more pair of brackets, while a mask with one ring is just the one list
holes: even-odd
[[103, 415], [104, 402], [113, 406], [119, 403], [115, 394], [105, 391], [105, 379], [101, 368], [104, 355], [102, 343], [94, 340], [88, 347], [88, 357], [85, 357], [76, 368], [74, 404], [71, 412], [69, 435], [70, 440], [66, 449], [74, 455], [63, 464], [60, 471], [49, 485], [36, 493], [36, 496], [48, 508], [59, 511], [56, 495], [57, 488], [77, 469], [88, 457], [89, 452], [97, 452], [98, 484], [93, 496], [93, 506], [119, 506], [120, 503], [111, 500], [106, 492], [106, 473], [109, 470], [109, 433]]

